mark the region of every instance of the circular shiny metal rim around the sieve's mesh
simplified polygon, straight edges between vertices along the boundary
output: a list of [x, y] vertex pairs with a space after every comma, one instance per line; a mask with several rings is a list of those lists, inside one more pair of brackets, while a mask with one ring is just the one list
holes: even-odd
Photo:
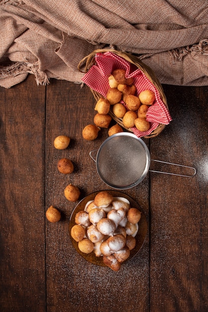
[[[103, 150], [104, 146], [108, 143], [108, 141], [112, 140], [115, 137], [121, 137], [121, 136], [131, 137], [131, 138], [135, 139], [136, 141], [139, 141], [139, 143], [142, 145], [142, 147], [145, 150], [146, 165], [145, 165], [145, 168], [143, 170], [143, 173], [140, 175], [140, 177], [136, 181], [134, 181], [134, 182], [132, 182], [132, 183], [130, 183], [128, 185], [118, 186], [118, 185], [115, 185], [114, 183], [111, 183], [109, 180], [107, 180], [103, 176], [103, 174], [102, 174], [102, 172], [101, 172], [101, 170], [99, 168], [99, 164], [98, 163], [99, 163], [99, 157], [100, 157], [100, 155], [102, 153], [102, 150]], [[142, 139], [138, 138], [136, 135], [134, 135], [132, 133], [120, 132], [120, 133], [116, 133], [116, 134], [108, 137], [107, 139], [104, 140], [104, 142], [100, 146], [100, 148], [98, 150], [98, 153], [97, 153], [97, 156], [96, 156], [96, 168], [97, 168], [97, 172], [98, 172], [99, 176], [101, 177], [101, 179], [104, 181], [105, 184], [107, 184], [108, 186], [110, 186], [110, 187], [112, 187], [114, 189], [118, 189], [118, 190], [119, 189], [132, 188], [132, 187], [136, 186], [137, 184], [139, 184], [145, 178], [145, 176], [147, 175], [149, 167], [150, 167], [150, 153], [149, 153], [148, 147], [147, 147], [147, 145], [144, 143], [144, 141]]]

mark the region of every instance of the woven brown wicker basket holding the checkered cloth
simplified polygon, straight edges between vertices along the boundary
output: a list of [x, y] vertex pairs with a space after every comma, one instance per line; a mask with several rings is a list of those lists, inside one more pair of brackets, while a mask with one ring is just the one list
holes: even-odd
[[[159, 82], [159, 80], [157, 79], [157, 77], [155, 76], [154, 72], [152, 71], [152, 69], [145, 65], [144, 63], [142, 63], [141, 60], [139, 60], [136, 56], [131, 55], [129, 53], [126, 52], [121, 52], [121, 51], [116, 51], [113, 49], [98, 49], [93, 51], [91, 54], [87, 55], [86, 57], [84, 57], [80, 63], [78, 64], [78, 70], [83, 72], [83, 73], [87, 73], [90, 68], [96, 64], [95, 61], [95, 55], [97, 53], [105, 53], [105, 52], [113, 52], [116, 55], [124, 58], [126, 61], [136, 65], [139, 69], [142, 70], [142, 72], [145, 74], [145, 76], [152, 82], [152, 84], [157, 88], [157, 90], [159, 91], [160, 97], [163, 101], [163, 103], [165, 104], [166, 108], [168, 109], [168, 104], [167, 104], [167, 100], [166, 100], [166, 96], [163, 92], [163, 88]], [[84, 66], [84, 70], [82, 70], [81, 68], [83, 68]], [[90, 88], [91, 89], [91, 88]], [[98, 101], [100, 98], [102, 98], [103, 96], [101, 94], [99, 94], [97, 91], [91, 89], [96, 101]], [[125, 128], [122, 122], [121, 118], [117, 118], [113, 113], [112, 110], [109, 111], [109, 115], [112, 117], [113, 120], [116, 121], [116, 123], [118, 123], [122, 128], [126, 129], [129, 132], [133, 132], [130, 128]], [[156, 136], [158, 136], [162, 130], [165, 128], [164, 124], [159, 124], [158, 127], [156, 129], [154, 129], [150, 135], [145, 136], [144, 138], [149, 139], [149, 138], [154, 138]]]

